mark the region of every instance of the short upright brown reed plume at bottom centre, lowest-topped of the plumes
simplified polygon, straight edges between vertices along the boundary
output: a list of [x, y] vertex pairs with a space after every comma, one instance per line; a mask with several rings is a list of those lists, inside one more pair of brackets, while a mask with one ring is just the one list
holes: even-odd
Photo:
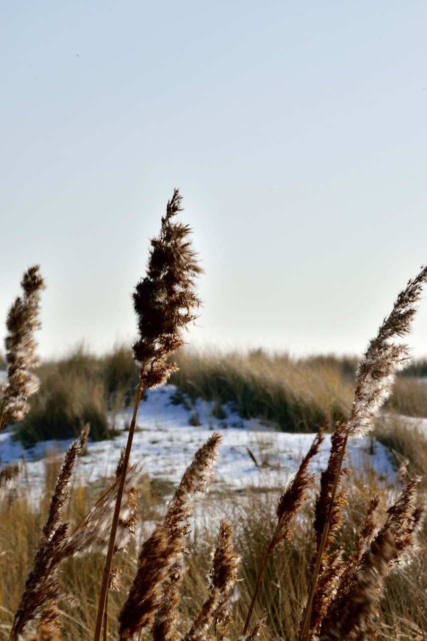
[[213, 638], [209, 634], [212, 626], [215, 638], [220, 641], [224, 641], [226, 638], [231, 618], [237, 570], [239, 569], [239, 557], [233, 553], [231, 545], [232, 533], [231, 526], [221, 520], [218, 546], [213, 554], [209, 595], [194, 620], [192, 628], [185, 636], [185, 641], [206, 641]]

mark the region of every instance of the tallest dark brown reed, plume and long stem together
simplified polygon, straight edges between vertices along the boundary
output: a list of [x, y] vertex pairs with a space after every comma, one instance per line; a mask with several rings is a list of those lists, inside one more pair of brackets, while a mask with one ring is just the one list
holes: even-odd
[[176, 189], [171, 201], [167, 203], [166, 215], [162, 217], [160, 235], [151, 240], [147, 275], [138, 283], [133, 294], [140, 334], [140, 338], [133, 345], [133, 353], [135, 360], [140, 364], [140, 378], [110, 531], [94, 641], [99, 641], [101, 637], [122, 492], [140, 399], [145, 390], [165, 383], [171, 372], [176, 370], [175, 363], [169, 362], [169, 358], [177, 349], [183, 347], [182, 333], [188, 329], [188, 324], [197, 318], [193, 313], [199, 306], [194, 278], [201, 269], [188, 240], [190, 228], [174, 221], [174, 217], [180, 211], [181, 196]]

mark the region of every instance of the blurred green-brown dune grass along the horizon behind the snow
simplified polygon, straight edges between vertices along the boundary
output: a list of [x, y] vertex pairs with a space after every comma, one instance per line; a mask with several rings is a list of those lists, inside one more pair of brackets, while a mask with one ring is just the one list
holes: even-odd
[[[183, 349], [176, 362], [180, 369], [170, 379], [176, 386], [174, 401], [188, 410], [197, 398], [210, 401], [219, 419], [231, 410], [281, 431], [312, 432], [325, 419], [333, 426], [351, 412], [355, 357]], [[79, 347], [60, 360], [42, 363], [37, 373], [40, 392], [17, 427], [25, 443], [74, 437], [87, 422], [93, 440], [111, 437], [115, 415], [133, 404], [138, 384], [138, 367], [124, 345], [103, 356]], [[427, 417], [426, 373], [426, 360], [401, 372], [383, 414]], [[195, 425], [196, 418], [189, 415]]]

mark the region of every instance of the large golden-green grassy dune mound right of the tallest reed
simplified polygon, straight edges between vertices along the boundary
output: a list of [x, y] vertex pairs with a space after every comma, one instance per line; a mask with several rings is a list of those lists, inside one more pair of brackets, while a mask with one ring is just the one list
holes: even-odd
[[355, 387], [347, 359], [294, 360], [263, 350], [183, 350], [171, 382], [193, 401], [201, 397], [212, 402], [217, 413], [230, 403], [243, 419], [265, 419], [289, 432], [315, 431], [325, 418], [331, 423], [339, 420], [351, 407]]

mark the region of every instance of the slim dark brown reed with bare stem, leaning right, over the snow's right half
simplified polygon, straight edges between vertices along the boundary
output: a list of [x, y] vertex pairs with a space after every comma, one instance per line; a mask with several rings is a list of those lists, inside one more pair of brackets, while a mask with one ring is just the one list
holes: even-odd
[[247, 617], [243, 628], [243, 637], [245, 637], [247, 628], [249, 628], [249, 622], [251, 620], [253, 608], [255, 606], [256, 596], [258, 595], [258, 590], [260, 589], [262, 576], [264, 574], [269, 555], [274, 552], [274, 550], [278, 549], [283, 544], [283, 542], [285, 542], [285, 540], [289, 538], [292, 519], [296, 515], [299, 508], [301, 508], [301, 505], [303, 504], [303, 501], [306, 497], [306, 490], [313, 481], [314, 477], [308, 474], [308, 463], [310, 463], [310, 460], [312, 460], [312, 458], [319, 451], [319, 447], [321, 446], [323, 440], [323, 431], [323, 428], [319, 429], [310, 449], [308, 450], [308, 453], [303, 458], [301, 465], [299, 465], [299, 469], [294, 479], [280, 497], [280, 501], [276, 510], [278, 517], [276, 530], [274, 531], [274, 535], [272, 536], [269, 547], [267, 547], [267, 551], [264, 554], [262, 566], [260, 568], [260, 571], [258, 572], [251, 604], [249, 606], [249, 611], [247, 612]]

